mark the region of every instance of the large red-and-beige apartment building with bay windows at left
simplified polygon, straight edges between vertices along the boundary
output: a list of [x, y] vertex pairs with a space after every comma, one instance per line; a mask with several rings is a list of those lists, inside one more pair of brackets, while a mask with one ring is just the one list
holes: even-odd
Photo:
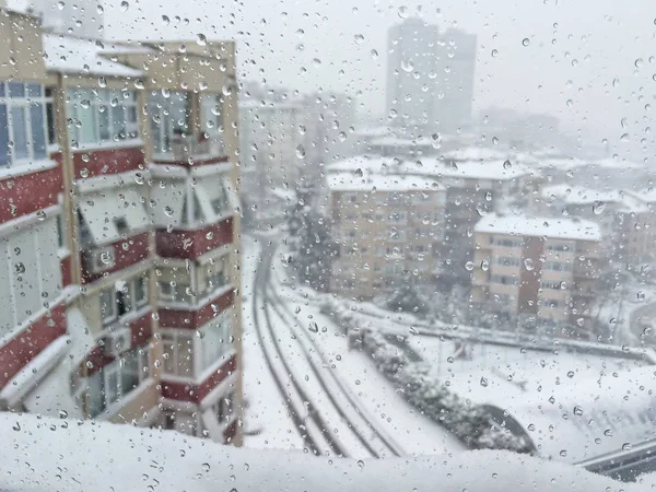
[[8, 15], [2, 407], [238, 444], [234, 45], [102, 45]]

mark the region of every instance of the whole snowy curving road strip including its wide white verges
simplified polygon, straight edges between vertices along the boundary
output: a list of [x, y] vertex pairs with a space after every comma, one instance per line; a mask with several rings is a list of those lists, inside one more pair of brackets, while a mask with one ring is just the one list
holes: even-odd
[[[245, 326], [245, 340], [251, 337], [250, 353], [245, 358], [245, 390], [253, 400], [260, 389], [259, 383], [249, 384], [255, 374], [248, 367], [257, 361], [247, 359], [258, 355], [254, 353], [257, 344], [258, 371], [269, 373], [268, 395], [276, 388], [276, 399], [285, 408], [288, 422], [280, 422], [280, 403], [273, 406], [272, 423], [281, 426], [285, 440], [281, 446], [358, 459], [461, 449], [443, 429], [417, 414], [366, 355], [349, 352], [338, 327], [289, 295], [290, 288], [279, 278], [284, 272], [274, 256], [277, 244], [269, 239], [273, 237], [262, 237], [262, 249], [251, 251], [247, 262], [255, 267], [245, 268], [245, 274], [253, 274], [245, 279], [245, 286], [251, 284], [245, 289], [250, 292], [246, 304], [251, 316], [250, 326]], [[257, 378], [261, 377], [258, 372]], [[269, 432], [247, 436], [246, 445], [277, 447], [274, 438], [280, 433], [271, 430], [265, 412], [253, 411]], [[248, 420], [247, 415], [247, 427]], [[290, 442], [290, 429], [297, 434], [296, 443]]]

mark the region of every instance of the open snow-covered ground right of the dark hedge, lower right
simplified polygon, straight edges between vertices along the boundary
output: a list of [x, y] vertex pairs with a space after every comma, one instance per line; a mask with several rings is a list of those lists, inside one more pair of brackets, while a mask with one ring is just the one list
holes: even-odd
[[[654, 408], [649, 388], [642, 385], [656, 367], [641, 360], [485, 344], [470, 348], [470, 360], [449, 360], [455, 343], [432, 337], [410, 337], [409, 347], [460, 397], [508, 411], [525, 430], [535, 425], [528, 434], [541, 456], [577, 462], [656, 437], [651, 422], [622, 415]], [[608, 424], [604, 411], [621, 422]], [[608, 425], [617, 432], [605, 435]]]

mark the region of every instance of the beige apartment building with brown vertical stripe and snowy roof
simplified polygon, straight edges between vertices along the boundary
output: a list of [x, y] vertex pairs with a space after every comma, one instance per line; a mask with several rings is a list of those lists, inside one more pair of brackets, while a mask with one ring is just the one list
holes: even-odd
[[590, 329], [601, 248], [596, 223], [491, 213], [473, 232], [475, 302], [514, 319]]

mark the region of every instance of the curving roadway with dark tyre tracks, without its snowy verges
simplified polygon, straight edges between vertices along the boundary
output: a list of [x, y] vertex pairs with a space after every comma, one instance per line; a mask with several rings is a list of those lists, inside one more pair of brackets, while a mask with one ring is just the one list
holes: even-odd
[[355, 458], [402, 456], [403, 449], [342, 384], [311, 330], [300, 326], [295, 313], [280, 298], [271, 276], [278, 244], [271, 236], [261, 239], [253, 292], [255, 329], [305, 447], [313, 454]]

